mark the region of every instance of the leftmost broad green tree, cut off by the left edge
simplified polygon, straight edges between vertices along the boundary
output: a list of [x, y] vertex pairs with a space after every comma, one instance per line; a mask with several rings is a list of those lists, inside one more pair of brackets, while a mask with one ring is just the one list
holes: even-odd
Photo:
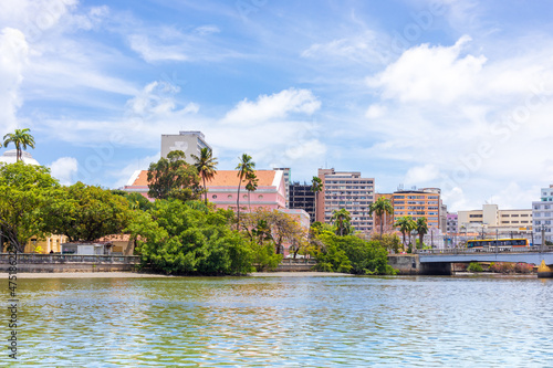
[[60, 185], [50, 170], [21, 161], [0, 165], [1, 243], [23, 252], [32, 236], [45, 235], [43, 208]]

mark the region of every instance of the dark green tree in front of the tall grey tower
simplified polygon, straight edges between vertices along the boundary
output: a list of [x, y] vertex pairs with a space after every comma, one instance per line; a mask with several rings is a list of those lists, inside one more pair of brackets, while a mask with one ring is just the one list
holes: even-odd
[[173, 150], [167, 158], [152, 162], [148, 169], [148, 196], [155, 199], [176, 198], [181, 201], [197, 200], [201, 196], [200, 177], [185, 161], [185, 153]]

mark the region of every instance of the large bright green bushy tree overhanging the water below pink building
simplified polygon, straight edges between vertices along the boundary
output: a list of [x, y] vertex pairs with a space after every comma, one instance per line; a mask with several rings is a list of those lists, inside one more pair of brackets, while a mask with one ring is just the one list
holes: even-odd
[[195, 202], [156, 201], [131, 225], [143, 264], [167, 274], [225, 275], [252, 271], [253, 251], [230, 229], [229, 210], [206, 211]]

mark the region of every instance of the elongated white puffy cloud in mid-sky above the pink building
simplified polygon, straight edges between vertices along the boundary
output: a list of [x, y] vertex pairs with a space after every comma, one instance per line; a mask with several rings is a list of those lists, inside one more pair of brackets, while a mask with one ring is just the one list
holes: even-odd
[[270, 96], [259, 96], [257, 102], [241, 101], [227, 113], [225, 122], [238, 125], [259, 124], [285, 118], [293, 113], [312, 115], [320, 107], [321, 102], [311, 91], [289, 88]]

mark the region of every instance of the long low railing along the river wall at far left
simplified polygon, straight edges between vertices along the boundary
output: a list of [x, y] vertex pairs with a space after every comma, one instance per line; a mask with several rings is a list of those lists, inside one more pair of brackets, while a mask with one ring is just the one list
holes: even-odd
[[[13, 254], [0, 253], [0, 264], [9, 263]], [[138, 264], [139, 255], [79, 255], [18, 253], [18, 263], [113, 263]]]

